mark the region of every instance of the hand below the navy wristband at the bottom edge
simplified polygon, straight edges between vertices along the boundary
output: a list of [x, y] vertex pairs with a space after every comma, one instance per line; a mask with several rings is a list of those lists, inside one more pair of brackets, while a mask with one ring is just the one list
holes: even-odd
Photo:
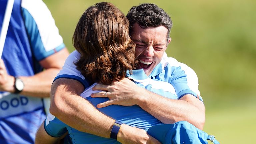
[[122, 144], [161, 144], [143, 129], [122, 124], [117, 135], [117, 141]]

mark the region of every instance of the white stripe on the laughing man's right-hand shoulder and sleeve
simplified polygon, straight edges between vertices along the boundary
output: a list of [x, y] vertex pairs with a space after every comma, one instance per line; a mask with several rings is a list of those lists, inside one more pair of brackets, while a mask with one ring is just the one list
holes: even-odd
[[198, 78], [193, 69], [191, 69], [189, 66], [187, 66], [184, 63], [178, 62], [175, 58], [167, 57], [167, 54], [164, 53], [163, 58], [161, 60], [162, 69], [164, 70], [164, 68], [168, 64], [169, 66], [181, 67], [181, 70], [183, 70], [187, 75], [188, 87], [192, 91], [200, 95], [200, 91], [198, 90]]

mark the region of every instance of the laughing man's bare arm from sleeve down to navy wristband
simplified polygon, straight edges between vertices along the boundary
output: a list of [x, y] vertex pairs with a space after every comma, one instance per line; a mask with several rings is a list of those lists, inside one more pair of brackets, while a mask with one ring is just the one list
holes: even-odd
[[57, 79], [52, 84], [50, 113], [67, 125], [86, 133], [110, 138], [114, 119], [99, 112], [80, 97], [83, 86], [76, 80]]

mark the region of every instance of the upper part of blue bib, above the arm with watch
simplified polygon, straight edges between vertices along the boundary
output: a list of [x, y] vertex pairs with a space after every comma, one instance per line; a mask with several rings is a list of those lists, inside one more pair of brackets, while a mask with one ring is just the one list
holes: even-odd
[[[2, 2], [0, 1], [0, 3]], [[0, 13], [0, 15], [3, 14]], [[0, 23], [2, 20], [0, 19]], [[2, 59], [9, 75], [31, 76], [35, 74], [33, 55], [21, 14], [21, 0], [14, 1]], [[37, 71], [40, 70], [42, 67]]]

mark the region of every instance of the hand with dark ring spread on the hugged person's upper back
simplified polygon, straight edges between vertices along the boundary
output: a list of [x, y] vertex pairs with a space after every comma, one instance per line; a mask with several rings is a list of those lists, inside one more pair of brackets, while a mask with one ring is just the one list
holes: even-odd
[[108, 97], [109, 100], [97, 105], [98, 108], [109, 105], [132, 106], [138, 105], [138, 93], [145, 90], [138, 87], [134, 82], [128, 78], [121, 81], [115, 81], [110, 85], [95, 85], [93, 90], [102, 90], [102, 92], [92, 93], [91, 97]]

